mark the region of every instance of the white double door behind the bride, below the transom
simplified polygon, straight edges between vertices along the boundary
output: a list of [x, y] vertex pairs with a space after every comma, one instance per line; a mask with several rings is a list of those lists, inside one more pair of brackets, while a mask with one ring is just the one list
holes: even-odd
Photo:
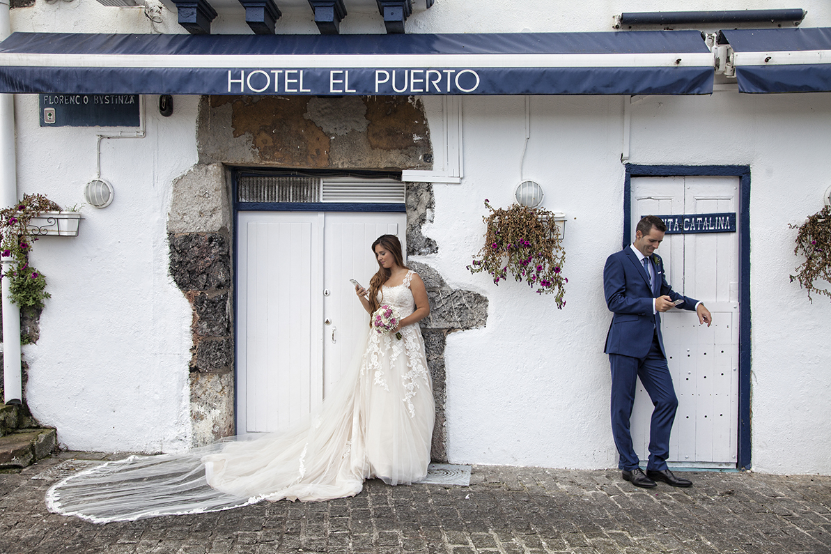
[[406, 252], [406, 215], [241, 211], [237, 229], [237, 433], [272, 432], [337, 386], [369, 325], [349, 279], [369, 287], [380, 235]]

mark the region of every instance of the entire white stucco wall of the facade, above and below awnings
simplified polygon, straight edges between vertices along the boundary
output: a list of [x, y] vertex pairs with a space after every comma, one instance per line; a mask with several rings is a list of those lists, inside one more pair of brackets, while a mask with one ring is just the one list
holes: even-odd
[[[681, 9], [724, 9], [700, 0]], [[730, 9], [758, 8], [734, 2]], [[827, 2], [803, 2], [804, 27], [831, 25]], [[611, 31], [612, 15], [654, 2], [597, 0], [554, 9], [548, 0], [437, 0], [409, 32]], [[285, 12], [278, 32], [317, 32], [306, 11]], [[97, 2], [37, 2], [12, 11], [18, 31], [183, 32], [175, 14], [150, 23], [140, 9]], [[342, 32], [381, 32], [376, 14], [353, 14]], [[233, 14], [215, 32], [248, 32]], [[165, 225], [171, 183], [197, 161], [199, 98], [175, 96], [170, 118], [145, 98], [147, 136], [105, 140], [101, 175], [116, 188], [106, 210], [85, 208], [77, 239], [44, 239], [32, 262], [50, 280], [37, 344], [24, 348], [27, 399], [71, 448], [175, 450], [191, 440], [188, 367], [192, 311], [169, 276]], [[612, 467], [609, 314], [602, 265], [622, 235], [622, 97], [465, 97], [465, 178], [434, 185], [423, 234], [437, 251], [414, 257], [450, 289], [484, 294], [487, 324], [446, 337], [446, 425], [451, 462]], [[22, 191], [63, 205], [82, 201], [95, 177], [96, 129], [42, 129], [37, 97], [17, 96], [17, 175]], [[824, 409], [831, 304], [810, 304], [788, 275], [795, 230], [821, 207], [828, 187], [831, 96], [653, 96], [632, 104], [629, 161], [751, 168], [752, 464], [765, 472], [831, 472], [831, 417]], [[431, 130], [432, 131], [432, 130]], [[218, 161], [212, 159], [211, 161]], [[219, 160], [222, 161], [222, 160]], [[499, 288], [465, 265], [479, 248], [482, 201], [508, 205], [520, 178], [546, 190], [544, 206], [566, 212], [565, 309], [521, 284]], [[117, 445], [117, 447], [115, 446]]]

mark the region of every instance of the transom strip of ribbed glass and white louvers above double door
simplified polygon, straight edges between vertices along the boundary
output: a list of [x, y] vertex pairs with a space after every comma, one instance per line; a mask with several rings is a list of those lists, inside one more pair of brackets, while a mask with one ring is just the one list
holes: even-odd
[[392, 179], [243, 176], [237, 184], [239, 202], [404, 204], [405, 198], [404, 183]]

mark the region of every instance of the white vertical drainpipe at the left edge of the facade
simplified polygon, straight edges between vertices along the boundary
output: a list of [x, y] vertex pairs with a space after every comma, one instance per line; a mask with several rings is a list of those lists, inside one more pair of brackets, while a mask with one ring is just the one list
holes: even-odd
[[[9, 1], [0, 0], [0, 40], [12, 34]], [[14, 96], [0, 94], [0, 207], [17, 202], [17, 168], [14, 144]], [[3, 260], [6, 272], [10, 261]], [[8, 279], [2, 279], [2, 375], [5, 403], [21, 403], [20, 309], [8, 299]]]

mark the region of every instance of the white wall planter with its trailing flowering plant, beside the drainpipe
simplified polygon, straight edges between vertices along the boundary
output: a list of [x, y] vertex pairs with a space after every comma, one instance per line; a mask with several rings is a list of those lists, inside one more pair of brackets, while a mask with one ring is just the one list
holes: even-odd
[[29, 265], [29, 251], [38, 235], [76, 236], [80, 219], [79, 212], [63, 211], [40, 194], [23, 195], [17, 204], [0, 210], [0, 259], [8, 262], [2, 277], [9, 279], [13, 303], [21, 308], [43, 307], [43, 300], [51, 294], [43, 274]]

